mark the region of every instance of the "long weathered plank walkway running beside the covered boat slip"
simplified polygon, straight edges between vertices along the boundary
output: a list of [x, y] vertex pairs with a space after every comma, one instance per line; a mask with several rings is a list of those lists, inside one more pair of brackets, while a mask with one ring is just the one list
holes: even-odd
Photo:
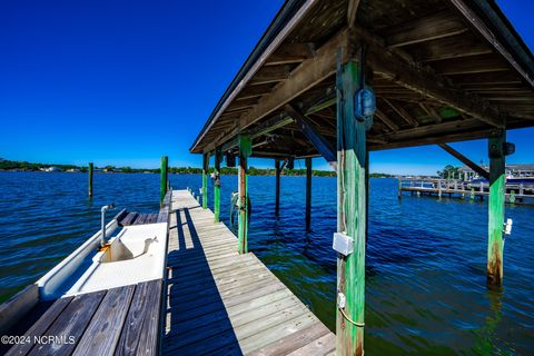
[[335, 335], [187, 190], [172, 192], [167, 355], [328, 355]]

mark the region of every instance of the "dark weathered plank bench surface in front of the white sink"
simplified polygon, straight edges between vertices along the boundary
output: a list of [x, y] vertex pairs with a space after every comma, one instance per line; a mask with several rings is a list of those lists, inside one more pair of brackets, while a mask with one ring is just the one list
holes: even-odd
[[156, 355], [161, 285], [156, 279], [60, 298], [6, 355]]

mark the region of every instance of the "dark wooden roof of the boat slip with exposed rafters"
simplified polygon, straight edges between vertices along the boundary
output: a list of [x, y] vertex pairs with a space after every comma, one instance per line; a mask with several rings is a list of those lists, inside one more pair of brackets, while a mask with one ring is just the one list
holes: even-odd
[[297, 0], [278, 12], [191, 152], [231, 150], [246, 134], [255, 157], [318, 156], [286, 105], [336, 147], [338, 56], [354, 58], [359, 43], [377, 96], [370, 150], [534, 126], [533, 55], [494, 1]]

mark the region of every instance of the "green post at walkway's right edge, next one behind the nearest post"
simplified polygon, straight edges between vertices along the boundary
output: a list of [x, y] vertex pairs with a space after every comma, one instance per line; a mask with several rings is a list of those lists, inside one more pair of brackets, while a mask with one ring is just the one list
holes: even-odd
[[253, 152], [250, 138], [239, 136], [239, 169], [238, 169], [238, 190], [239, 190], [239, 224], [237, 237], [239, 241], [239, 254], [248, 253], [248, 179], [247, 179], [247, 158]]

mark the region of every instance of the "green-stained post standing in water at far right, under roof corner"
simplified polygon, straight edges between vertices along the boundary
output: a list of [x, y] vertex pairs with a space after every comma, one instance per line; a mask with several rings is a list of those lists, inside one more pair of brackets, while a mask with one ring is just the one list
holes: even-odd
[[490, 198], [487, 222], [487, 283], [501, 286], [503, 281], [503, 226], [505, 200], [505, 158], [503, 145], [506, 132], [497, 130], [490, 136]]

